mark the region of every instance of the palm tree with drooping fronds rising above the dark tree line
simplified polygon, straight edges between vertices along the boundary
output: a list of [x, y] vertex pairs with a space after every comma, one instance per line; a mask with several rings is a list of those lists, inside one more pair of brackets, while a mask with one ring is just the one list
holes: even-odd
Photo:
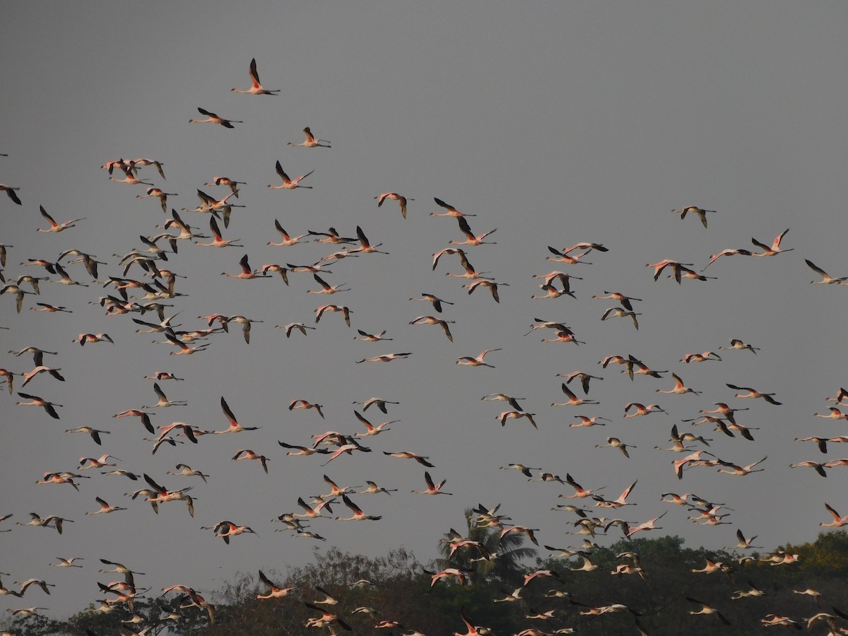
[[[503, 583], [520, 581], [523, 576], [522, 561], [533, 559], [536, 550], [524, 548], [524, 535], [510, 533], [500, 537], [500, 527], [481, 527], [477, 515], [466, 508], [466, 536], [460, 537], [453, 528], [439, 539], [438, 552], [441, 559], [436, 560], [440, 568], [457, 567], [471, 571], [471, 584], [497, 579]], [[459, 539], [477, 542], [483, 550], [474, 544], [462, 546], [451, 554], [452, 544]]]

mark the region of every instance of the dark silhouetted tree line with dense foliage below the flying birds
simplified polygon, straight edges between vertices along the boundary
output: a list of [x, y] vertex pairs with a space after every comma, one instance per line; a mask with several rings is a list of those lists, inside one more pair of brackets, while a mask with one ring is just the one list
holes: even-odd
[[[693, 636], [762, 634], [762, 620], [770, 616], [785, 616], [806, 630], [807, 619], [817, 613], [834, 616], [829, 622], [837, 630], [848, 629], [848, 620], [840, 616], [848, 611], [848, 533], [843, 531], [822, 533], [813, 543], [779, 546], [770, 553], [690, 549], [683, 546], [682, 538], [672, 536], [622, 539], [609, 547], [586, 550], [594, 566], [589, 572], [573, 571], [586, 562], [580, 555], [551, 553], [555, 556], [533, 560], [539, 550], [528, 546], [525, 534], [508, 533], [501, 538], [499, 528], [480, 528], [470, 521], [463, 531], [463, 538], [477, 542], [483, 550], [468, 544], [451, 554], [451, 538], [460, 535], [452, 531], [439, 542], [440, 557], [427, 564], [403, 548], [377, 558], [338, 548], [316, 549], [308, 566], [284, 575], [264, 572], [279, 587], [293, 588], [282, 598], [257, 599], [257, 594], [268, 593], [269, 586], [259, 580], [258, 573], [238, 574], [210, 595], [217, 601], [214, 623], [203, 608], [179, 609], [177, 605], [187, 601], [169, 594], [170, 600], [137, 600], [133, 610], [141, 622], [135, 624], [121, 622], [131, 616], [127, 608], [102, 613], [92, 605], [65, 621], [36, 614], [8, 621], [6, 628], [21, 636], [108, 636], [132, 630], [149, 636], [343, 633], [338, 622], [306, 628], [310, 619], [315, 622], [321, 616], [307, 603], [321, 603], [329, 595], [336, 604], [315, 607], [338, 616], [358, 634], [465, 633], [460, 611], [473, 624], [500, 635], [527, 628], [543, 633], [574, 628], [588, 635], [640, 630]], [[432, 584], [428, 572], [445, 568], [462, 572], [465, 584], [455, 577]], [[714, 572], [693, 572], [705, 569]], [[612, 574], [616, 570], [622, 573]], [[550, 572], [524, 585], [525, 577], [538, 571]], [[702, 604], [721, 617], [690, 613], [702, 611]], [[527, 618], [545, 613], [550, 617]], [[381, 622], [393, 624], [377, 628]], [[815, 622], [810, 632], [828, 633], [828, 619]]]

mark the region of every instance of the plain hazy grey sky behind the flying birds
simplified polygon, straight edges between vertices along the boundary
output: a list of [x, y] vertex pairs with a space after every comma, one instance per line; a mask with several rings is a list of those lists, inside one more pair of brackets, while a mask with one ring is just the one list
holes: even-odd
[[[140, 176], [166, 192], [169, 208], [193, 208], [200, 188], [213, 196], [226, 188], [204, 187], [213, 176], [246, 181], [225, 238], [244, 248], [199, 248], [181, 242], [179, 254], [161, 264], [187, 276], [166, 301], [182, 329], [201, 328], [199, 315], [246, 315], [254, 325], [251, 343], [238, 326], [209, 338], [209, 348], [171, 357], [170, 346], [151, 344], [158, 334], [137, 334], [124, 315], [105, 316], [96, 303], [111, 293], [92, 283], [81, 265], [67, 267], [91, 287], [42, 282], [40, 297], [26, 295], [14, 310], [14, 296], [0, 297], [3, 351], [36, 345], [56, 351], [45, 364], [58, 367], [66, 382], [44, 374], [24, 388], [64, 404], [61, 419], [42, 409], [14, 405], [3, 389], [5, 422], [0, 446], [0, 516], [12, 532], [0, 534], [3, 583], [43, 577], [55, 583], [48, 598], [39, 590], [25, 599], [9, 596], [0, 607], [47, 606], [56, 616], [101, 598], [98, 558], [120, 561], [146, 572], [138, 583], [153, 590], [183, 583], [216, 589], [236, 572], [261, 566], [284, 572], [310, 561], [315, 542], [275, 533], [271, 519], [300, 511], [297, 499], [326, 493], [321, 475], [340, 485], [365, 479], [399, 488], [391, 498], [352, 499], [380, 522], [311, 522], [325, 536], [321, 550], [382, 555], [403, 544], [421, 561], [436, 556], [438, 538], [464, 526], [463, 509], [501, 504], [515, 523], [539, 528], [544, 544], [578, 544], [566, 534], [571, 515], [550, 509], [570, 494], [557, 483], [527, 483], [517, 471], [499, 466], [522, 462], [583, 486], [606, 486], [613, 498], [639, 480], [636, 506], [619, 516], [642, 522], [668, 510], [661, 533], [679, 534], [691, 547], [721, 548], [735, 543], [734, 531], [758, 534], [771, 548], [814, 540], [819, 522], [829, 521], [828, 502], [845, 513], [844, 468], [823, 479], [801, 460], [838, 458], [848, 449], [830, 444], [828, 455], [795, 437], [834, 436], [845, 422], [818, 419], [828, 396], [848, 383], [842, 312], [848, 289], [811, 285], [817, 279], [804, 264], [811, 259], [834, 276], [848, 275], [845, 259], [845, 27], [844, 3], [5, 3], [0, 40], [3, 98], [0, 117], [0, 182], [20, 187], [22, 206], [0, 196], [8, 248], [7, 282], [23, 274], [43, 276], [26, 259], [57, 259], [77, 248], [98, 259], [100, 279], [122, 276], [119, 258], [142, 248], [165, 221], [153, 198], [137, 199], [144, 186], [109, 181], [100, 170], [110, 159], [158, 159], [163, 181], [152, 167]], [[243, 95], [248, 65], [255, 58], [265, 87], [278, 97]], [[233, 130], [189, 125], [198, 107], [243, 120]], [[331, 149], [291, 148], [310, 126]], [[314, 189], [280, 191], [275, 162]], [[115, 175], [120, 176], [120, 175]], [[377, 207], [380, 192], [414, 198], [403, 219], [398, 205]], [[2, 194], [2, 193], [0, 193]], [[461, 240], [457, 223], [432, 218], [441, 198], [469, 215], [474, 232], [497, 228], [496, 245], [467, 248], [479, 271], [491, 272], [500, 287], [499, 304], [486, 289], [468, 296], [454, 255], [432, 271], [432, 254]], [[36, 232], [45, 221], [42, 205], [56, 220], [86, 217], [59, 234]], [[672, 209], [696, 205], [717, 210], [705, 229], [696, 217], [683, 221]], [[182, 215], [209, 234], [208, 215]], [[242, 281], [235, 273], [248, 254], [250, 265], [303, 265], [335, 251], [309, 243], [269, 247], [279, 240], [273, 222], [293, 234], [336, 227], [354, 236], [361, 226], [390, 254], [365, 254], [334, 263], [326, 280], [351, 291], [334, 296], [307, 293], [317, 286], [306, 274]], [[723, 248], [756, 250], [756, 237], [771, 244], [785, 229], [788, 254], [773, 258], [733, 256], [705, 272], [717, 280], [652, 280], [644, 265], [661, 259], [694, 263], [700, 271]], [[547, 247], [580, 241], [603, 243], [608, 252], [584, 257], [592, 265], [546, 260]], [[577, 298], [531, 300], [540, 293], [531, 276], [562, 270]], [[140, 278], [133, 268], [127, 276]], [[55, 276], [52, 276], [55, 278]], [[26, 285], [23, 287], [29, 288]], [[627, 319], [600, 321], [611, 301], [593, 294], [621, 291], [642, 298], [636, 304], [639, 331]], [[421, 293], [455, 303], [440, 315], [455, 321], [450, 343], [438, 326], [410, 326], [420, 315], [435, 315]], [[36, 302], [73, 311], [30, 311]], [[315, 308], [346, 304], [352, 326], [326, 314], [317, 325]], [[564, 321], [585, 342], [540, 343], [550, 331], [523, 336], [534, 318]], [[303, 321], [315, 326], [305, 338], [286, 338], [274, 325]], [[354, 340], [356, 329], [387, 330], [392, 341]], [[114, 339], [81, 348], [71, 340], [84, 332], [108, 332]], [[761, 350], [718, 351], [730, 338]], [[455, 364], [483, 349], [494, 369]], [[685, 365], [689, 352], [714, 350], [722, 361]], [[407, 353], [407, 360], [357, 365], [383, 353]], [[609, 354], [633, 354], [660, 371], [674, 371], [695, 395], [660, 395], [672, 387], [662, 379], [636, 377], [621, 367], [601, 369]], [[6, 354], [3, 354], [6, 355]], [[31, 356], [8, 355], [10, 371], [30, 371]], [[153, 371], [173, 371], [185, 382], [162, 382], [186, 407], [152, 410], [154, 426], [187, 421], [221, 429], [223, 396], [244, 426], [255, 432], [209, 436], [198, 445], [164, 447], [152, 456], [147, 432], [137, 419], [113, 419], [120, 410], [152, 404]], [[589, 399], [600, 404], [551, 407], [564, 401], [557, 373], [582, 370], [604, 377]], [[776, 393], [782, 406], [734, 399], [725, 383]], [[21, 378], [15, 378], [15, 390]], [[572, 385], [573, 386], [573, 385]], [[536, 414], [538, 431], [525, 420], [500, 427], [495, 416], [507, 407], [483, 402], [488, 393], [522, 397]], [[578, 394], [582, 393], [578, 391]], [[391, 431], [366, 438], [369, 455], [341, 456], [329, 466], [313, 457], [287, 457], [276, 442], [307, 445], [326, 430], [360, 432], [354, 400], [378, 396], [398, 401], [388, 416], [374, 408], [375, 424], [400, 420]], [[314, 410], [287, 410], [293, 399], [323, 404], [326, 421]], [[624, 419], [628, 402], [661, 404], [667, 415]], [[729, 477], [715, 469], [693, 469], [678, 482], [674, 455], [666, 446], [670, 429], [718, 401], [750, 410], [737, 421], [756, 441], [728, 438], [710, 425], [694, 432], [711, 438], [711, 452], [741, 465], [760, 460], [765, 471]], [[571, 428], [573, 416], [603, 416], [605, 427]], [[103, 446], [65, 429], [88, 425], [108, 429]], [[608, 436], [637, 448], [626, 459], [616, 449], [596, 449]], [[239, 449], [270, 458], [269, 474], [256, 462], [232, 461]], [[452, 497], [410, 494], [424, 487], [424, 469], [382, 451], [410, 450], [430, 457], [438, 482], [447, 479]], [[85, 471], [80, 492], [70, 486], [34, 483], [45, 471], [76, 470], [78, 458], [103, 453], [120, 457], [121, 468], [148, 473], [171, 489], [193, 486], [192, 519], [179, 503], [154, 515], [142, 500], [122, 494], [144, 487], [125, 477]], [[177, 463], [209, 473], [209, 483], [169, 477]], [[701, 527], [683, 508], [660, 502], [669, 491], [694, 492], [733, 509], [732, 525]], [[94, 498], [129, 510], [86, 516]], [[343, 505], [335, 515], [348, 516]], [[28, 513], [74, 520], [59, 536], [53, 530], [20, 527]], [[600, 510], [602, 513], [604, 510]], [[211, 531], [221, 520], [253, 527], [227, 546]], [[621, 534], [611, 528], [601, 542]], [[544, 550], [541, 555], [545, 555]], [[48, 566], [53, 556], [81, 556], [81, 570]]]

